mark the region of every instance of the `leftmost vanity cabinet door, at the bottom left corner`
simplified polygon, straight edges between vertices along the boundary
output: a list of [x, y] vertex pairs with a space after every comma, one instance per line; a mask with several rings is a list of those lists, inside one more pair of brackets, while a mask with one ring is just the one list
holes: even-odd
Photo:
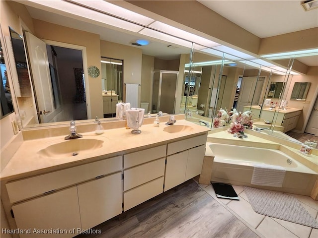
[[[70, 230], [81, 228], [79, 200], [76, 186], [53, 192], [12, 206], [16, 225], [19, 229], [30, 229], [24, 237], [74, 237]], [[36, 229], [36, 230], [34, 230]], [[44, 234], [47, 231], [64, 231], [62, 234]]]

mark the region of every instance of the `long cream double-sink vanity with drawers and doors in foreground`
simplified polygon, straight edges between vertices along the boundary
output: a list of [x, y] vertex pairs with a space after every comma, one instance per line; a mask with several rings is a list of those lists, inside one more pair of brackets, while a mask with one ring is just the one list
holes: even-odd
[[21, 238], [49, 230], [61, 233], [51, 237], [74, 237], [201, 174], [209, 128], [177, 120], [140, 129], [139, 135], [125, 128], [81, 133], [72, 141], [103, 143], [76, 156], [42, 153], [67, 143], [64, 136], [25, 140], [1, 172], [11, 229], [31, 229]]

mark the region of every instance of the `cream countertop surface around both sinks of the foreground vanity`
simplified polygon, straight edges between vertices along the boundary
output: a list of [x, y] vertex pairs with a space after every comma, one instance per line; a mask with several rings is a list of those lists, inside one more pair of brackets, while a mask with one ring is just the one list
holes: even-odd
[[200, 126], [186, 120], [177, 120], [175, 125], [189, 125], [193, 129], [181, 132], [168, 133], [163, 131], [165, 127], [174, 125], [164, 125], [161, 122], [159, 127], [153, 124], [142, 125], [139, 129], [141, 134], [132, 134], [132, 129], [114, 128], [105, 130], [103, 134], [96, 135], [94, 131], [79, 133], [83, 135], [80, 139], [99, 139], [103, 140], [103, 146], [89, 153], [79, 153], [77, 156], [70, 157], [42, 157], [37, 152], [52, 144], [61, 143], [63, 136], [54, 136], [25, 140], [17, 149], [13, 157], [2, 170], [0, 179], [19, 179], [27, 176], [33, 176], [40, 173], [51, 172], [59, 169], [65, 169], [99, 159], [122, 155], [132, 151], [146, 149], [147, 147], [164, 144], [181, 138], [191, 137], [196, 134], [207, 133], [210, 128]]

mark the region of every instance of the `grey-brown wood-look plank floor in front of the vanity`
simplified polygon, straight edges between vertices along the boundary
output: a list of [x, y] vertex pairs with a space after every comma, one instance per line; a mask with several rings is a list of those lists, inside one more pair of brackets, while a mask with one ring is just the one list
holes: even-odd
[[77, 238], [258, 238], [190, 179]]

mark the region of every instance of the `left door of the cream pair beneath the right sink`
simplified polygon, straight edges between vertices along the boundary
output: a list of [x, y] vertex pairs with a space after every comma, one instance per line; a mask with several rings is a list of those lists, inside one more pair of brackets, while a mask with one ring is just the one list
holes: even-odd
[[167, 156], [164, 191], [184, 182], [187, 169], [188, 150]]

